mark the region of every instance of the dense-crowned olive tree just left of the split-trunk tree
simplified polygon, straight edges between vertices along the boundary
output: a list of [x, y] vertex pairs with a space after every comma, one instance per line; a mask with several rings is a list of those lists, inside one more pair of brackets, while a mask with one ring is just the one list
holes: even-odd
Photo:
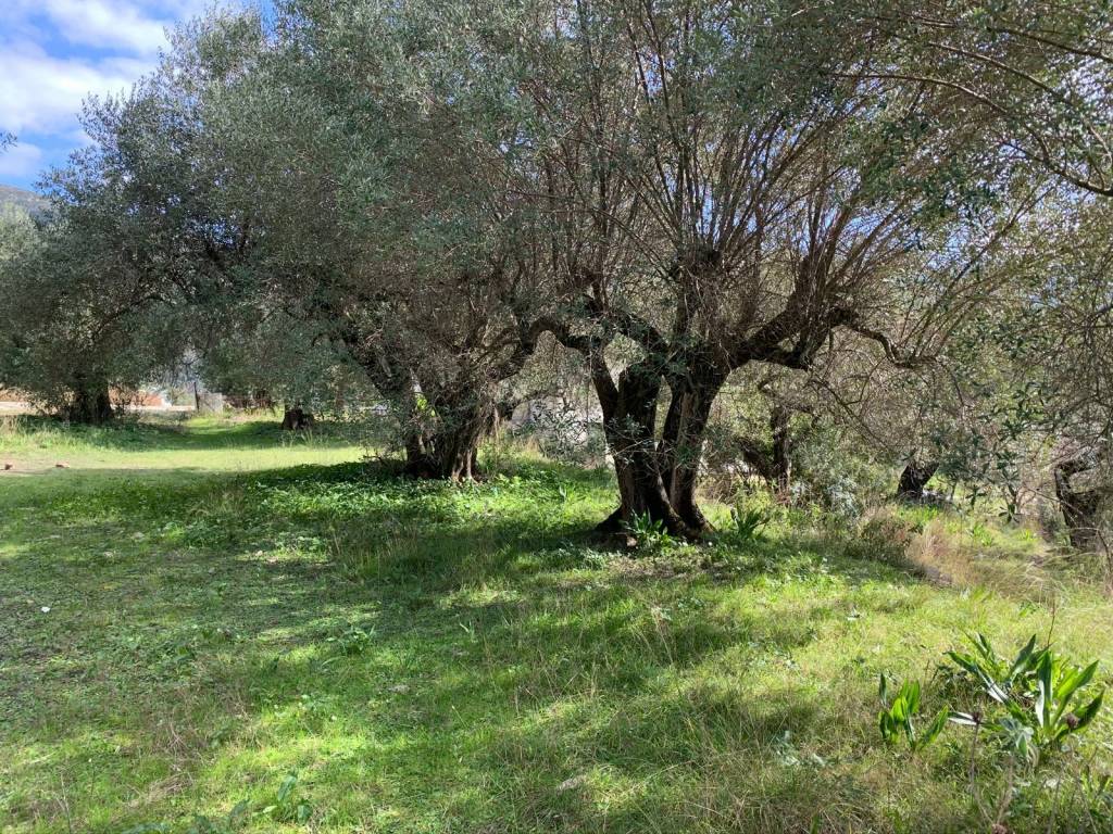
[[201, 107], [254, 229], [256, 304], [318, 322], [363, 368], [412, 474], [467, 478], [543, 290], [531, 220], [457, 115], [482, 91], [421, 71], [450, 47], [424, 11], [285, 6], [253, 71]]

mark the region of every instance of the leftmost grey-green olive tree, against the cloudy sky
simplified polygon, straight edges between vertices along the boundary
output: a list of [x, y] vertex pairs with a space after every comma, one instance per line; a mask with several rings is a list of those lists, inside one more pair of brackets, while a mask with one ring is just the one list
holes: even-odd
[[[225, 77], [250, 53], [237, 56]], [[3, 265], [4, 381], [71, 419], [108, 419], [112, 389], [157, 378], [203, 342], [205, 314], [232, 297], [250, 245], [244, 218], [224, 210], [199, 118], [197, 89], [221, 68], [189, 58], [86, 102], [92, 143], [43, 178], [48, 216]]]

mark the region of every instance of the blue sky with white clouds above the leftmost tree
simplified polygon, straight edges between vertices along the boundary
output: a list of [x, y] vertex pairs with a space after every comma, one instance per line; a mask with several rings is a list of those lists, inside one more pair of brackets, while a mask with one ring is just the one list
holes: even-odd
[[[226, 3], [223, 3], [226, 4]], [[77, 113], [149, 71], [168, 26], [211, 0], [0, 0], [0, 183], [30, 187], [88, 142]]]

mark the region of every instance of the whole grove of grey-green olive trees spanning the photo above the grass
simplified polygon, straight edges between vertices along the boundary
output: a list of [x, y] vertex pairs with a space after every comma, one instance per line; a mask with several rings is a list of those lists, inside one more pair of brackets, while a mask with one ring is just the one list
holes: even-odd
[[559, 349], [597, 399], [607, 530], [708, 528], [707, 437], [739, 391], [766, 427], [737, 458], [780, 492], [806, 414], [906, 496], [938, 471], [1016, 499], [1054, 447], [1067, 522], [1094, 527], [1113, 23], [1025, 8], [213, 12], [89, 102], [48, 216], [6, 221], [0, 385], [100, 420], [109, 387], [196, 351], [288, 404], [382, 400], [411, 474], [466, 479]]

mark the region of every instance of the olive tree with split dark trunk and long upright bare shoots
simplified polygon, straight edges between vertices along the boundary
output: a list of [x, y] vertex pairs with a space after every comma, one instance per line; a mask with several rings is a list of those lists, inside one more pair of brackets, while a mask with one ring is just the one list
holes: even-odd
[[546, 61], [515, 92], [540, 126], [536, 190], [573, 218], [553, 224], [569, 298], [553, 330], [592, 368], [622, 498], [608, 526], [698, 532], [730, 375], [807, 369], [847, 338], [915, 365], [984, 291], [976, 264], [1030, 190], [947, 96], [863, 72], [874, 47], [835, 10], [595, 2], [548, 19]]

